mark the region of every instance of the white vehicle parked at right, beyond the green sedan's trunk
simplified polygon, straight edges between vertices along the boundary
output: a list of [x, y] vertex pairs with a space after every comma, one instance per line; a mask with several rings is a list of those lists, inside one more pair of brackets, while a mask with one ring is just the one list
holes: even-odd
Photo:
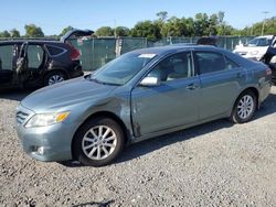
[[276, 37], [274, 35], [257, 36], [246, 45], [238, 44], [235, 46], [234, 53], [242, 55], [245, 58], [261, 61], [269, 46], [275, 45]]

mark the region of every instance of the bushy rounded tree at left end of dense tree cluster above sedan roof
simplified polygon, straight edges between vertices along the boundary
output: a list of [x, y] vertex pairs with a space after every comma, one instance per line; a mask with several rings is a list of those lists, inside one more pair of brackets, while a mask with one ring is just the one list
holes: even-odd
[[158, 23], [150, 20], [138, 22], [130, 33], [131, 36], [147, 37], [149, 41], [157, 41], [161, 39], [160, 28]]

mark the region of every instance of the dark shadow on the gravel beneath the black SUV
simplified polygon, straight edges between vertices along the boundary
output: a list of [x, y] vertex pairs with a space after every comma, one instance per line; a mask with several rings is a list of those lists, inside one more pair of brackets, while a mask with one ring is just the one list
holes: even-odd
[[34, 89], [1, 89], [0, 90], [0, 99], [8, 99], [8, 100], [17, 100], [21, 101], [23, 98], [25, 98], [28, 95], [33, 92]]

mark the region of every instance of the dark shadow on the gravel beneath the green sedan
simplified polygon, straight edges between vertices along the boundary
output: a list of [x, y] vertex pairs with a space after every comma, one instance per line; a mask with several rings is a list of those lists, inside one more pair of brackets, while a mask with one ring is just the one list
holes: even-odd
[[[262, 105], [262, 108], [256, 111], [253, 120], [264, 118], [275, 112], [276, 112], [276, 94], [270, 94], [269, 97], [266, 99], [266, 101]], [[139, 156], [142, 156], [156, 150], [162, 149], [164, 146], [174, 144], [177, 142], [183, 142], [183, 141], [187, 141], [187, 140], [190, 140], [190, 139], [203, 135], [203, 134], [208, 134], [216, 130], [231, 128], [233, 124], [235, 123], [229, 121], [227, 119], [220, 119], [220, 120], [203, 123], [197, 127], [192, 127], [185, 130], [181, 130], [178, 132], [145, 140], [145, 141], [127, 146], [124, 150], [124, 152], [120, 154], [118, 160], [114, 162], [114, 164], [124, 163], [124, 162], [137, 159]], [[79, 162], [76, 162], [76, 161], [65, 161], [65, 162], [60, 162], [60, 164], [68, 166], [68, 167], [84, 166]]]

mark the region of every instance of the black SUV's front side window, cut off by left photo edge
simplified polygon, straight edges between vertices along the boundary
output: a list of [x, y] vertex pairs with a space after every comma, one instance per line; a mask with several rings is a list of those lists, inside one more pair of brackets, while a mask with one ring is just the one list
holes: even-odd
[[0, 69], [12, 70], [13, 45], [0, 46]]

